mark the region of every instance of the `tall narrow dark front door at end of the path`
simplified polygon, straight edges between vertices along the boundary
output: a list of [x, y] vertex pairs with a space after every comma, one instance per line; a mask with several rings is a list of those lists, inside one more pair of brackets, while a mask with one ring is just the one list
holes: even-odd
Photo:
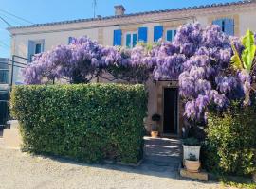
[[178, 88], [164, 88], [163, 133], [178, 134]]

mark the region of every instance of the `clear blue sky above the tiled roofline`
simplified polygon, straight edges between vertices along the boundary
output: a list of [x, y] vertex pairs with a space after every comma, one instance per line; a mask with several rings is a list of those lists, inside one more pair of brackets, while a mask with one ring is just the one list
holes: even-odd
[[[156, 9], [184, 8], [213, 3], [234, 2], [235, 0], [97, 0], [96, 14], [114, 14], [115, 5], [123, 5], [126, 13]], [[1, 10], [9, 11], [32, 23], [46, 23], [93, 17], [92, 0], [0, 0], [0, 17], [12, 26], [27, 25]], [[9, 58], [10, 37], [7, 25], [0, 20], [0, 57]]]

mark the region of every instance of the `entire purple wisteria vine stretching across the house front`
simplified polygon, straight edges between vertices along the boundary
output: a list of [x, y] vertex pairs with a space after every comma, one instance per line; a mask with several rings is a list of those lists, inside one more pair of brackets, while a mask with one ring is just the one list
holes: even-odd
[[231, 43], [239, 53], [243, 51], [239, 39], [226, 35], [219, 26], [202, 28], [198, 23], [179, 27], [173, 43], [159, 41], [151, 48], [145, 44], [133, 49], [106, 47], [82, 37], [35, 56], [24, 76], [27, 84], [62, 78], [89, 82], [106, 73], [139, 83], [150, 77], [178, 80], [185, 115], [200, 120], [209, 105], [224, 109], [230, 100], [248, 95], [251, 77], [230, 70]]

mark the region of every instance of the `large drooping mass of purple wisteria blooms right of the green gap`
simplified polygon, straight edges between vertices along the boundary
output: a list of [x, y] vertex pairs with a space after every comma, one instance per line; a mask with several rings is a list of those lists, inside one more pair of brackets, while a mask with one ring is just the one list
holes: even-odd
[[187, 117], [202, 119], [210, 104], [223, 109], [229, 100], [243, 97], [241, 79], [228, 72], [231, 41], [242, 49], [238, 39], [224, 34], [219, 26], [202, 29], [195, 23], [181, 26], [173, 43], [157, 48], [154, 77], [179, 80]]

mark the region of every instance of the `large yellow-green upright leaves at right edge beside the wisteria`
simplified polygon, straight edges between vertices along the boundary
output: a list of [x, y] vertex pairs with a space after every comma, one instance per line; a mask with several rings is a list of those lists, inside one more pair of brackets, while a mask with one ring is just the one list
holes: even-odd
[[235, 69], [245, 69], [247, 73], [250, 73], [253, 65], [253, 60], [256, 52], [256, 45], [254, 43], [254, 34], [252, 31], [247, 30], [247, 34], [242, 38], [242, 43], [245, 49], [242, 52], [242, 60], [240, 59], [239, 53], [237, 52], [234, 44], [232, 44], [232, 49], [234, 52], [231, 62]]

